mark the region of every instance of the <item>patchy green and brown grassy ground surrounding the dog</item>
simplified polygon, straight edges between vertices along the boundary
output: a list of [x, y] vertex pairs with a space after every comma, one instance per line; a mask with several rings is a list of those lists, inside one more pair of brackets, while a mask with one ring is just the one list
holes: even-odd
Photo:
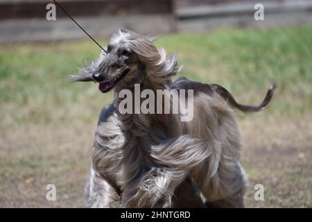
[[[312, 207], [312, 27], [161, 36], [180, 76], [223, 85], [242, 103], [279, 87], [270, 109], [238, 115], [247, 207]], [[103, 44], [105, 40], [101, 41]], [[0, 207], [81, 207], [96, 119], [112, 94], [65, 80], [93, 60], [91, 41], [0, 46]], [[55, 184], [57, 200], [47, 201]], [[254, 185], [265, 188], [254, 200]]]

